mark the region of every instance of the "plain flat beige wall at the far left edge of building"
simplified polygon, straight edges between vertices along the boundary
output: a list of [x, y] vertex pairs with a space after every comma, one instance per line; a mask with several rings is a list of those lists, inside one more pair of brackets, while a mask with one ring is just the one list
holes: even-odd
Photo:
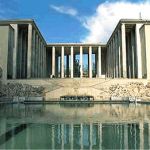
[[9, 28], [9, 26], [0, 26], [0, 66], [3, 70], [2, 81], [7, 80]]

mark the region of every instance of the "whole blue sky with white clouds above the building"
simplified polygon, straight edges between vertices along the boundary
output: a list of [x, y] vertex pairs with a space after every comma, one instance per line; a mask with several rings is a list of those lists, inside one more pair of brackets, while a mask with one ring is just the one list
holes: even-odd
[[47, 42], [105, 43], [120, 18], [149, 10], [149, 1], [0, 0], [1, 19], [32, 18]]

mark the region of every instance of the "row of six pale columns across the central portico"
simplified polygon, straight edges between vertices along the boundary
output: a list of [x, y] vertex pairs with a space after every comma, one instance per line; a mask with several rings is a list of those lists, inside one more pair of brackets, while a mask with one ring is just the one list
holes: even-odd
[[[57, 47], [61, 47], [61, 54], [60, 54], [60, 68], [61, 68], [61, 78], [64, 78], [64, 56], [65, 56], [65, 50], [67, 50], [67, 54], [66, 54], [66, 66], [67, 66], [67, 77], [69, 77], [69, 70], [70, 70], [70, 78], [74, 78], [74, 63], [75, 63], [75, 55], [77, 54], [75, 48], [77, 48], [77, 46], [60, 46], [60, 45], [56, 45], [56, 46], [52, 46], [52, 75], [57, 76], [58, 73], [58, 57], [56, 56], [56, 48]], [[87, 47], [87, 46], [86, 46]], [[67, 49], [66, 49], [67, 48]], [[84, 55], [84, 46], [78, 46], [79, 48], [79, 67], [80, 67], [80, 78], [83, 77], [83, 55]], [[102, 68], [102, 64], [101, 64], [101, 46], [97, 46], [97, 51], [95, 52], [97, 55], [96, 60], [95, 60], [95, 64], [96, 64], [96, 71], [97, 71], [97, 77], [101, 77], [102, 73], [101, 73], [101, 68]], [[92, 78], [92, 53], [93, 53], [93, 47], [92, 46], [88, 46], [88, 77]], [[69, 56], [70, 56], [70, 65], [69, 65]], [[69, 68], [70, 67], [70, 68]]]

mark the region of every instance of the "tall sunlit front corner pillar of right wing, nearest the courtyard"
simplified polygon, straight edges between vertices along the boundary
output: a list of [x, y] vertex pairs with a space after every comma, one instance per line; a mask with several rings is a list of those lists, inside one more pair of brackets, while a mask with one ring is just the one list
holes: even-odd
[[122, 44], [122, 73], [123, 78], [127, 78], [127, 63], [126, 63], [126, 31], [125, 24], [121, 24], [121, 44]]

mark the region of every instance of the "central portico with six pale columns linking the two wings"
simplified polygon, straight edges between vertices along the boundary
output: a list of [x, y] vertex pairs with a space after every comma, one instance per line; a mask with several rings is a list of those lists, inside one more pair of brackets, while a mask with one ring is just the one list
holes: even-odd
[[48, 44], [47, 54], [47, 57], [49, 57], [47, 58], [47, 70], [49, 70], [47, 76], [56, 78], [105, 76], [105, 45], [81, 43]]

